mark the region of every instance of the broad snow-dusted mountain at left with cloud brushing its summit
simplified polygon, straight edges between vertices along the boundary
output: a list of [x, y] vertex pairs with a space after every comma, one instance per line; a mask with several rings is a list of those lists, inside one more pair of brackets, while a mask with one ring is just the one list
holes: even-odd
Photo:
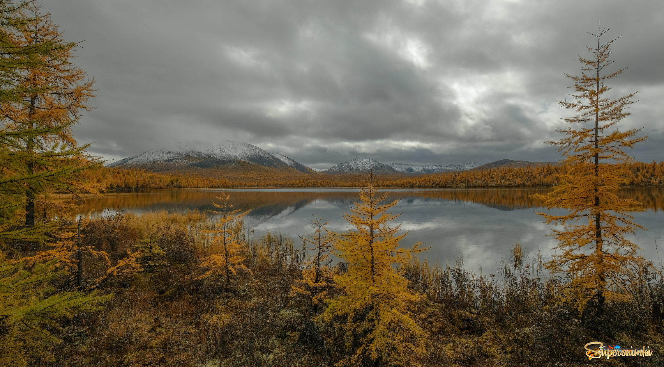
[[142, 168], [151, 171], [219, 168], [243, 161], [270, 168], [294, 168], [311, 172], [282, 154], [268, 153], [245, 142], [222, 140], [214, 146], [178, 146], [177, 150], [155, 149], [109, 164], [109, 167]]

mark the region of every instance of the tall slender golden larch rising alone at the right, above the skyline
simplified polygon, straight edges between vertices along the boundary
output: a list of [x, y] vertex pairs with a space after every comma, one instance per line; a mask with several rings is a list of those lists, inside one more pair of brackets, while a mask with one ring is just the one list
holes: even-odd
[[588, 47], [587, 58], [578, 58], [583, 64], [582, 75], [566, 74], [574, 81], [576, 93], [572, 101], [558, 103], [577, 114], [564, 119], [572, 127], [558, 130], [567, 136], [549, 143], [564, 154], [567, 171], [560, 174], [558, 185], [548, 195], [535, 195], [548, 209], [568, 211], [564, 215], [540, 213], [547, 223], [562, 225], [552, 233], [560, 252], [546, 267], [569, 276], [568, 294], [579, 311], [593, 305], [599, 314], [607, 300], [627, 297], [620, 284], [629, 277], [630, 269], [645, 261], [637, 254], [639, 247], [625, 238], [641, 228], [629, 214], [642, 210], [641, 205], [616, 195], [625, 182], [626, 163], [633, 161], [625, 148], [632, 148], [645, 136], [637, 137], [639, 129], [621, 132], [616, 128], [616, 123], [629, 115], [625, 109], [633, 103], [636, 92], [622, 97], [608, 95], [611, 87], [606, 81], [624, 69], [605, 71], [611, 64], [610, 46], [617, 39], [602, 43], [606, 32], [598, 24], [597, 34], [590, 33], [597, 44]]

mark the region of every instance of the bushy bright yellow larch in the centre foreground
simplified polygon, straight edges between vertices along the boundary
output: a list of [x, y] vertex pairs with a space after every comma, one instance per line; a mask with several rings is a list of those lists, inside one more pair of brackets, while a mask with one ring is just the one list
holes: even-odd
[[398, 215], [388, 213], [398, 201], [382, 203], [388, 194], [377, 196], [373, 182], [370, 174], [360, 202], [344, 213], [351, 227], [335, 242], [334, 254], [348, 263], [348, 271], [335, 276], [341, 295], [328, 299], [321, 315], [327, 322], [345, 319], [339, 326], [345, 331], [347, 356], [339, 365], [404, 363], [424, 352], [425, 333], [409, 311], [424, 295], [408, 289], [402, 269], [414, 252], [426, 248], [419, 243], [400, 248], [406, 233], [398, 235], [400, 225], [389, 226]]

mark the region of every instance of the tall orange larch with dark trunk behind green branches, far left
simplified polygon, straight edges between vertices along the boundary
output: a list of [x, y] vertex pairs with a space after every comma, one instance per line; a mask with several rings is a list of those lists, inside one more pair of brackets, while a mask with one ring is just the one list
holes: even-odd
[[[19, 202], [25, 203], [24, 229], [21, 231], [12, 221], [0, 231], [13, 227], [14, 231], [39, 237], [48, 228], [48, 218], [53, 217], [46, 213], [47, 207], [54, 204], [49, 201], [49, 193], [96, 191], [96, 187], [77, 178], [77, 174], [98, 161], [86, 153], [88, 145], [78, 146], [72, 136], [72, 127], [80, 120], [81, 111], [90, 109], [88, 100], [94, 97], [94, 81], [86, 81], [84, 70], [72, 64], [77, 44], [62, 40], [50, 15], [41, 15], [36, 3], [27, 3], [19, 13], [29, 21], [11, 37], [17, 50], [44, 48], [44, 45], [48, 49], [21, 52], [15, 57], [15, 62], [22, 62], [23, 66], [11, 73], [11, 98], [0, 103], [3, 125], [0, 194], [10, 199], [3, 202], [1, 210], [16, 213]], [[41, 225], [37, 222], [38, 207]]]

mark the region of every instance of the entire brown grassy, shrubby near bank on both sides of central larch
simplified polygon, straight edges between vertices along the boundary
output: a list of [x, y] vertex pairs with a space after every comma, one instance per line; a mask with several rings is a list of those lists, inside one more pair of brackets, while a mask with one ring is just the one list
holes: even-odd
[[[113, 293], [106, 309], [63, 320], [60, 342], [33, 353], [39, 366], [330, 366], [347, 352], [333, 324], [316, 319], [311, 299], [291, 293], [302, 278], [305, 253], [283, 236], [248, 240], [247, 269], [231, 284], [197, 279], [200, 259], [218, 251], [202, 236], [214, 223], [203, 213], [114, 213], [82, 229], [86, 246], [112, 261], [155, 229], [166, 256], [154, 272], [118, 276], [102, 289]], [[108, 265], [84, 257], [86, 285]], [[426, 294], [413, 314], [427, 332], [422, 366], [581, 366], [590, 341], [643, 344], [650, 358], [594, 360], [594, 364], [660, 366], [664, 361], [661, 274], [643, 269], [625, 291], [633, 300], [608, 303], [602, 319], [572, 306], [560, 278], [538, 278], [540, 263], [515, 246], [499, 274], [479, 276], [453, 267], [412, 262], [403, 269], [410, 288]], [[333, 272], [345, 272], [344, 263]], [[71, 284], [58, 280], [60, 287]], [[332, 291], [333, 295], [334, 291]]]

